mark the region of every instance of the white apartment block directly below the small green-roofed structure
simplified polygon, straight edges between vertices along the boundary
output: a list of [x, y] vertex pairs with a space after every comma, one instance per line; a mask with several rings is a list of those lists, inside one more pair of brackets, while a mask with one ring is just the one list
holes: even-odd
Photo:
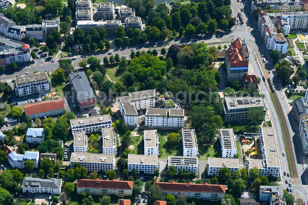
[[183, 109], [148, 108], [144, 125], [148, 127], [184, 127]]

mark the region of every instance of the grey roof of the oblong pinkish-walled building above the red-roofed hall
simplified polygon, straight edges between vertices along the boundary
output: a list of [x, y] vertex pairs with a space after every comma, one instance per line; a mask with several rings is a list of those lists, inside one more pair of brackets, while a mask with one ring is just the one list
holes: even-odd
[[95, 98], [95, 94], [84, 71], [70, 73], [69, 76], [79, 100]]

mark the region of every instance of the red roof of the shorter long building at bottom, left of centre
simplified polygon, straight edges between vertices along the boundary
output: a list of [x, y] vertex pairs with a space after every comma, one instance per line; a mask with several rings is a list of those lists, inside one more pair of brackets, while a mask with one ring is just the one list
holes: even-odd
[[132, 181], [101, 180], [101, 179], [78, 179], [77, 188], [96, 188], [96, 189], [125, 189], [132, 190]]

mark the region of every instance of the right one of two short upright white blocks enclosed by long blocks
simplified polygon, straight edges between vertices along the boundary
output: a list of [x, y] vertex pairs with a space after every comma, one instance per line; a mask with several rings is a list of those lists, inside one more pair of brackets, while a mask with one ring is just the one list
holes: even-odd
[[102, 129], [103, 154], [116, 154], [118, 142], [113, 127]]

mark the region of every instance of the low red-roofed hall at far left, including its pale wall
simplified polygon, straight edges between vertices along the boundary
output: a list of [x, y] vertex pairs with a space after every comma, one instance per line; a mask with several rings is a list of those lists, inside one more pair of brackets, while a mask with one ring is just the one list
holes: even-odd
[[64, 112], [63, 99], [37, 102], [23, 107], [30, 119], [56, 116]]

